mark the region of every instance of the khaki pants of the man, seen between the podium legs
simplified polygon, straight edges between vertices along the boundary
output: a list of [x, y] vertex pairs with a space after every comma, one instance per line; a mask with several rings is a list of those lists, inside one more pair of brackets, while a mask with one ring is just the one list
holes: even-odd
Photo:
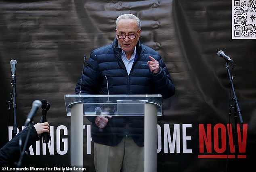
[[144, 147], [132, 137], [124, 137], [117, 146], [94, 143], [94, 165], [97, 172], [144, 172]]

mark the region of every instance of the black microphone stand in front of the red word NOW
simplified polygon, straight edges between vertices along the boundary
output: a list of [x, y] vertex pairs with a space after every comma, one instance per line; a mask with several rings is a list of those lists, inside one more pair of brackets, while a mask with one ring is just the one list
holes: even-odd
[[[237, 97], [235, 95], [235, 89], [234, 89], [234, 86], [233, 86], [233, 78], [231, 78], [231, 75], [230, 75], [230, 72], [229, 72], [229, 65], [228, 65], [228, 62], [226, 61], [226, 68], [227, 68], [227, 73], [228, 73], [228, 76], [229, 76], [229, 81], [231, 83], [231, 89], [232, 89], [232, 92], [233, 92], [233, 96], [231, 99], [235, 101], [235, 104], [234, 106], [230, 106], [230, 111], [232, 109], [235, 110], [234, 112], [234, 118], [235, 118], [235, 131], [234, 131], [234, 144], [235, 144], [235, 158], [237, 158], [237, 151], [238, 151], [238, 138], [237, 138], [237, 116], [239, 117], [239, 120], [240, 120], [240, 123], [243, 124], [243, 118], [242, 118], [242, 115], [241, 115], [241, 110], [239, 108], [239, 105], [238, 105], [238, 101], [237, 101]], [[231, 114], [231, 113], [230, 113]], [[230, 132], [230, 131], [229, 131]]]

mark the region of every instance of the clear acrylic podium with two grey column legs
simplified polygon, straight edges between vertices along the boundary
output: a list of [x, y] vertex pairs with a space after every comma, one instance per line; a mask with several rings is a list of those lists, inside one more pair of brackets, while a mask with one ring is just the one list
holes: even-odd
[[70, 120], [71, 166], [83, 166], [83, 117], [106, 116], [95, 108], [111, 108], [110, 116], [144, 116], [144, 171], [157, 172], [157, 116], [162, 116], [162, 95], [65, 95]]

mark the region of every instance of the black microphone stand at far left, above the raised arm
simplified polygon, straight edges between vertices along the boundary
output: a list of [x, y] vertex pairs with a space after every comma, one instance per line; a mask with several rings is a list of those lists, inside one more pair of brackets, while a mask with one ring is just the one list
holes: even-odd
[[13, 105], [13, 137], [17, 134], [17, 122], [16, 122], [16, 76], [13, 74], [12, 79], [10, 81], [11, 85], [13, 85], [13, 93], [10, 93], [11, 95], [11, 101], [8, 101], [8, 110], [10, 110], [10, 104]]

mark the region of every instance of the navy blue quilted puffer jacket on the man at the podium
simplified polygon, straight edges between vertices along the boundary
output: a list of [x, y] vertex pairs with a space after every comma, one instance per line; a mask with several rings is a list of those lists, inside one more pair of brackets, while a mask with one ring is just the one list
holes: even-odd
[[[128, 75], [117, 38], [113, 44], [93, 50], [84, 68], [81, 94], [107, 94], [106, 76], [109, 94], [162, 94], [163, 98], [174, 95], [174, 84], [158, 52], [140, 41], [136, 45], [136, 51], [134, 64]], [[159, 62], [158, 74], [149, 70], [149, 55]], [[79, 93], [81, 79], [82, 76], [76, 85], [76, 94]], [[138, 146], [144, 145], [143, 117], [113, 117], [103, 129], [96, 126], [95, 117], [88, 119], [92, 122], [94, 142], [115, 146], [120, 143], [122, 137], [132, 137]]]

